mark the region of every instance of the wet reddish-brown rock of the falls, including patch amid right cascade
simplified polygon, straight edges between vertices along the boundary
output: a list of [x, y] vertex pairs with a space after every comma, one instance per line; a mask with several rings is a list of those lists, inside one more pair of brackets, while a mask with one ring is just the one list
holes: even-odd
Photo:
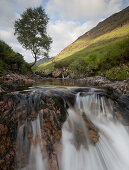
[[[27, 124], [31, 124], [31, 121], [36, 120], [38, 115], [41, 118], [42, 125], [42, 152], [45, 153], [43, 156], [46, 157], [47, 155], [50, 170], [59, 169], [56, 154], [58, 152], [61, 155], [62, 152], [62, 126], [67, 118], [67, 107], [74, 106], [74, 93], [79, 92], [78, 90], [81, 91], [78, 88], [74, 89], [72, 93], [55, 92], [56, 95], [53, 92], [51, 96], [44, 93], [19, 93], [0, 97], [0, 169], [16, 169], [18, 124], [20, 124], [24, 136]], [[88, 92], [89, 88], [82, 89], [83, 91]], [[84, 114], [83, 120], [85, 121], [90, 141], [95, 145], [99, 140], [99, 130]], [[33, 139], [32, 131], [29, 130], [27, 133], [28, 145], [30, 146], [33, 143], [36, 146], [39, 142], [39, 136]], [[77, 127], [77, 138], [78, 134], [81, 137], [83, 136], [79, 127]], [[25, 146], [23, 146], [23, 150], [22, 157], [17, 162], [17, 165], [21, 165], [22, 168], [26, 166], [28, 161]]]

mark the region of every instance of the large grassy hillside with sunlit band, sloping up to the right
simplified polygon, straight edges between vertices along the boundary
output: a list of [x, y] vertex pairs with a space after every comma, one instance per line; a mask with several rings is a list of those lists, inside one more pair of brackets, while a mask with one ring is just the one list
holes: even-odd
[[36, 70], [67, 67], [75, 78], [129, 78], [129, 7], [100, 22]]

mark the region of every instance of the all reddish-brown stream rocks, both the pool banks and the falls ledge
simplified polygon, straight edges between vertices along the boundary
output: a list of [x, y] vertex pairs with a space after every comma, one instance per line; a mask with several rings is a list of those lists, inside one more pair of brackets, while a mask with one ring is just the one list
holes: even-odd
[[[111, 99], [113, 113], [116, 119], [123, 124], [129, 124], [129, 83], [111, 82], [103, 77], [87, 78], [79, 80], [86, 86], [98, 86], [99, 89], [91, 91], [90, 87], [78, 87], [68, 89], [37, 88], [34, 90], [21, 92], [5, 92], [6, 90], [17, 89], [17, 86], [32, 85], [35, 80], [44, 81], [43, 78], [35, 80], [26, 76], [11, 74], [1, 78], [0, 93], [0, 169], [14, 170], [27, 166], [29, 159], [26, 149], [30, 150], [31, 145], [37, 146], [41, 141], [41, 151], [43, 159], [47, 157], [49, 170], [59, 170], [58, 157], [62, 154], [62, 127], [68, 117], [68, 108], [74, 108], [76, 94], [88, 96], [95, 93]], [[78, 80], [76, 80], [78, 81]], [[101, 89], [101, 88], [102, 89]], [[74, 112], [79, 111], [74, 108]], [[39, 117], [40, 135], [34, 138], [31, 123], [37, 121]], [[83, 114], [82, 119], [88, 132], [90, 143], [94, 146], [99, 141], [99, 129], [93, 124], [87, 115]], [[28, 128], [29, 127], [29, 128]], [[72, 128], [69, 124], [69, 128]], [[29, 130], [28, 130], [29, 129]], [[22, 134], [22, 149], [19, 144], [19, 130]], [[76, 128], [76, 135], [83, 137], [81, 127]], [[27, 145], [24, 145], [27, 139]], [[76, 148], [81, 145], [77, 142]], [[44, 149], [45, 148], [45, 149]], [[58, 155], [57, 155], [58, 153]]]

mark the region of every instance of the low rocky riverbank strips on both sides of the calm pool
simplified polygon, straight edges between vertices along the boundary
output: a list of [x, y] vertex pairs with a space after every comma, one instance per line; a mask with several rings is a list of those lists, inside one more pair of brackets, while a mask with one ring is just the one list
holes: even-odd
[[[59, 78], [51, 78], [53, 81]], [[21, 75], [21, 74], [7, 74], [0, 77], [0, 92], [15, 90], [19, 87], [31, 86], [33, 83], [42, 82], [47, 80], [46, 77], [40, 75]], [[65, 78], [62, 80], [71, 80], [70, 78]], [[85, 86], [94, 86], [107, 88], [115, 91], [118, 94], [129, 95], [129, 79], [123, 81], [113, 81], [109, 80], [103, 76], [87, 77], [83, 79], [73, 79], [77, 82], [83, 82]]]

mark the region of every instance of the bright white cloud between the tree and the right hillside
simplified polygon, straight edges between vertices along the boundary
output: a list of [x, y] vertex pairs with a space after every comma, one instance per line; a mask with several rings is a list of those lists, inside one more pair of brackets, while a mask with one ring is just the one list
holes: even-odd
[[51, 55], [57, 55], [68, 44], [75, 41], [80, 35], [84, 34], [97, 22], [56, 21], [48, 25], [48, 33], [53, 39]]

